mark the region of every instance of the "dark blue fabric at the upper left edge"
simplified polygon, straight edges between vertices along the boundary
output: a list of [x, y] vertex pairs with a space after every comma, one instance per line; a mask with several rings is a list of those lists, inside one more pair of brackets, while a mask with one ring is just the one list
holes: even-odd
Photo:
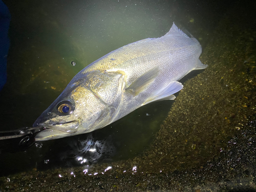
[[11, 14], [7, 6], [0, 0], [0, 91], [3, 89], [7, 79], [7, 54], [10, 47], [8, 29]]

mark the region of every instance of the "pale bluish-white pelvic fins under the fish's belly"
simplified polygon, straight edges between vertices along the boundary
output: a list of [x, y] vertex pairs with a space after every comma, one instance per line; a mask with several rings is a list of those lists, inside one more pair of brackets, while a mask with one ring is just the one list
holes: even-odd
[[173, 95], [177, 93], [183, 88], [183, 85], [178, 81], [170, 82], [167, 87], [160, 90], [158, 93], [153, 95], [152, 97], [148, 98], [142, 105], [147, 103], [151, 103], [154, 101], [162, 101], [162, 100], [174, 100], [176, 97]]

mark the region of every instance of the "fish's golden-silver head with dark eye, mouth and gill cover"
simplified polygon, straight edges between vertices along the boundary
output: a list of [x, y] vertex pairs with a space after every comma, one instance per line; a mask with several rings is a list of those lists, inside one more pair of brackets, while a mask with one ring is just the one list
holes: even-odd
[[120, 102], [122, 81], [121, 74], [94, 72], [86, 78], [75, 76], [34, 122], [33, 126], [47, 128], [35, 140], [89, 133], [109, 124]]

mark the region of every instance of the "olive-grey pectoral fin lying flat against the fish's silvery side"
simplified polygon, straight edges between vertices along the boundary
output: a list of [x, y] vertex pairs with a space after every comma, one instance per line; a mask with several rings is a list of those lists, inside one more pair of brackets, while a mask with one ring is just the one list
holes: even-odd
[[154, 82], [158, 74], [159, 67], [155, 67], [145, 72], [143, 75], [138, 77], [132, 84], [130, 84], [130, 86], [125, 89], [125, 91], [131, 93], [134, 96], [138, 95], [139, 93], [144, 91], [146, 87], [150, 86], [150, 84]]

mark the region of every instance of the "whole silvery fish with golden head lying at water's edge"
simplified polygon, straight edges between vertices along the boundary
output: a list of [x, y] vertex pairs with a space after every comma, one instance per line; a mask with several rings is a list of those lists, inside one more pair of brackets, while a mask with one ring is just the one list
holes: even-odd
[[175, 99], [177, 80], [205, 69], [201, 45], [173, 24], [160, 38], [147, 38], [106, 54], [81, 70], [33, 126], [47, 129], [36, 141], [89, 133], [147, 103]]

